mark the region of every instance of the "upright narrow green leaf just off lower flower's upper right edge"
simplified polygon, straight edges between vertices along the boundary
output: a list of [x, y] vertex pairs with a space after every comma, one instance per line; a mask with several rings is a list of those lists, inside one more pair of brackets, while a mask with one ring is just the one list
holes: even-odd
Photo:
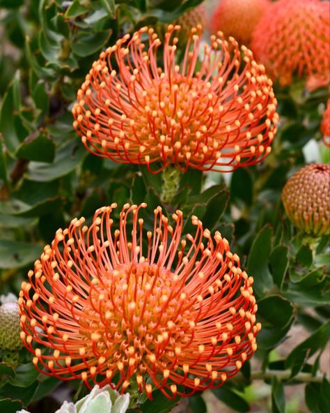
[[268, 269], [271, 248], [272, 230], [266, 225], [253, 241], [247, 262], [247, 273], [254, 278], [253, 290], [260, 296], [273, 286], [272, 274]]

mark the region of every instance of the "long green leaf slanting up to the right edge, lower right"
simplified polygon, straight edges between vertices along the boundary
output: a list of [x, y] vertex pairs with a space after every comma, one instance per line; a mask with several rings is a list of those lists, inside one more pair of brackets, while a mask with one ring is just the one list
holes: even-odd
[[285, 366], [292, 370], [291, 377], [297, 375], [303, 368], [304, 363], [327, 344], [329, 336], [330, 321], [324, 323], [320, 329], [317, 329], [306, 340], [294, 347], [285, 361]]

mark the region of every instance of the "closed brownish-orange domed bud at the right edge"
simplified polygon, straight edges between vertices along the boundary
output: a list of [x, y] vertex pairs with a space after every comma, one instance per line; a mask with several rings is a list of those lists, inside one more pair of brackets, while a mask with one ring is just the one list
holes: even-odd
[[285, 183], [282, 201], [299, 231], [313, 236], [330, 234], [330, 166], [301, 168]]

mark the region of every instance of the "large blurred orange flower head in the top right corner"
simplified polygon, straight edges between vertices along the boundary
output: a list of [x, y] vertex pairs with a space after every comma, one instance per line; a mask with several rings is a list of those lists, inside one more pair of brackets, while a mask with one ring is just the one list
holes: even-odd
[[330, 73], [329, 25], [329, 1], [278, 0], [253, 32], [251, 50], [283, 86], [294, 74], [324, 84]]

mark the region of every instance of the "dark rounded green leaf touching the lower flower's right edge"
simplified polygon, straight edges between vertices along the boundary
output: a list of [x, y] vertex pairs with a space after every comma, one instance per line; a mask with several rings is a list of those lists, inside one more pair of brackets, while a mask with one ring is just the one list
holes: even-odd
[[280, 295], [266, 296], [258, 301], [258, 316], [271, 326], [283, 329], [292, 322], [294, 308], [288, 299]]

